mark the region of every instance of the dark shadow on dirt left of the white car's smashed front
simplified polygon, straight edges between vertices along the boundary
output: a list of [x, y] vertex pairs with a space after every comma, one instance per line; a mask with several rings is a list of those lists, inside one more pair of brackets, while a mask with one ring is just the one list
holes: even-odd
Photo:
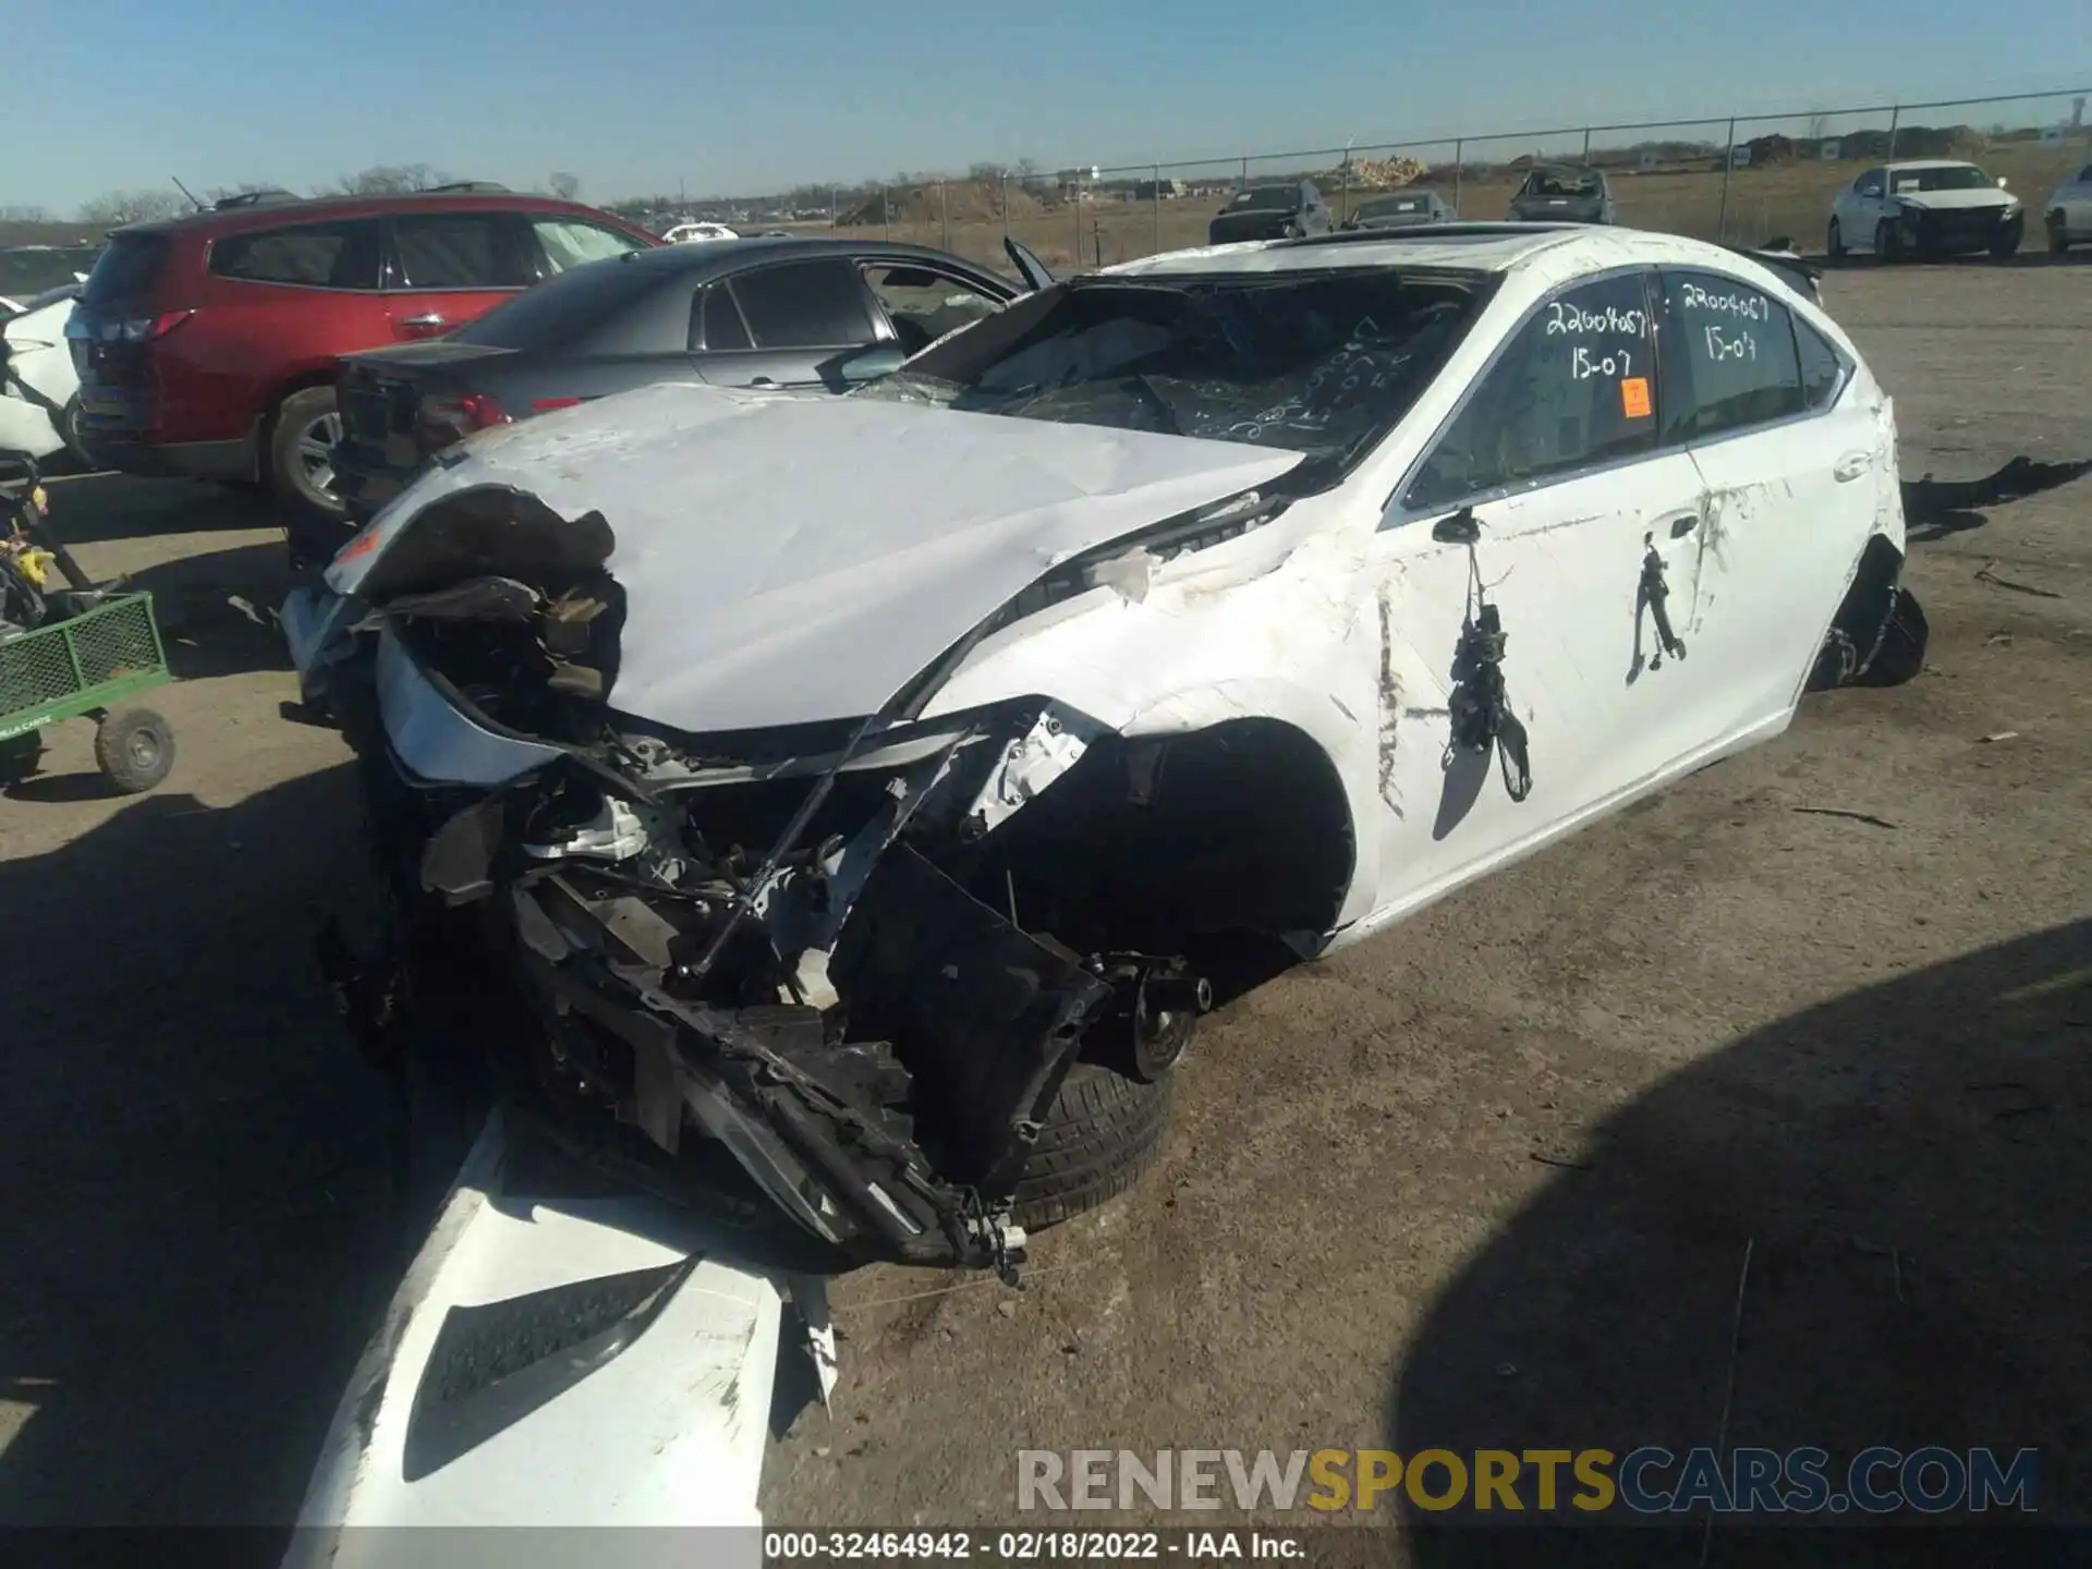
[[341, 766], [0, 860], [4, 1525], [297, 1508], [389, 1287], [383, 1100], [303, 914], [351, 810]]

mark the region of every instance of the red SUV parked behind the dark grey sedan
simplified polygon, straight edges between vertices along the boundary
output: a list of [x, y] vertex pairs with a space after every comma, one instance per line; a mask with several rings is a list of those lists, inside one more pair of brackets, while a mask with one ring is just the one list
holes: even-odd
[[339, 517], [339, 356], [439, 337], [565, 268], [649, 245], [594, 207], [485, 186], [234, 199], [119, 228], [65, 328], [82, 444], [113, 469], [259, 481]]

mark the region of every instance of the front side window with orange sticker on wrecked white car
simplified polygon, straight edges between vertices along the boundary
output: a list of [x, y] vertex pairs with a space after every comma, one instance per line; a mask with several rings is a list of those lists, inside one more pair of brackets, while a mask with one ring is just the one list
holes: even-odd
[[1640, 272], [1563, 291], [1504, 345], [1439, 433], [1404, 504], [1443, 506], [1648, 452], [1655, 360]]

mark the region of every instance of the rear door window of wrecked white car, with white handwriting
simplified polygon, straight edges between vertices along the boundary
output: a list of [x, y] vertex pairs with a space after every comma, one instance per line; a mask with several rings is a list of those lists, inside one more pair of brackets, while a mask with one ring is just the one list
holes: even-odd
[[1799, 414], [1795, 328], [1787, 308], [1718, 272], [1663, 274], [1665, 441]]

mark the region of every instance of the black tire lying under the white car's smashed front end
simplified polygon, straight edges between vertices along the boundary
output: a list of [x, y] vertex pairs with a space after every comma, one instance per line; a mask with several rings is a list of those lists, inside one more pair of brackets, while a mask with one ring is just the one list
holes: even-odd
[[1142, 1084], [1102, 1063], [1075, 1063], [1017, 1182], [1017, 1224], [1059, 1226], [1134, 1186], [1161, 1153], [1174, 1098], [1176, 1073]]

